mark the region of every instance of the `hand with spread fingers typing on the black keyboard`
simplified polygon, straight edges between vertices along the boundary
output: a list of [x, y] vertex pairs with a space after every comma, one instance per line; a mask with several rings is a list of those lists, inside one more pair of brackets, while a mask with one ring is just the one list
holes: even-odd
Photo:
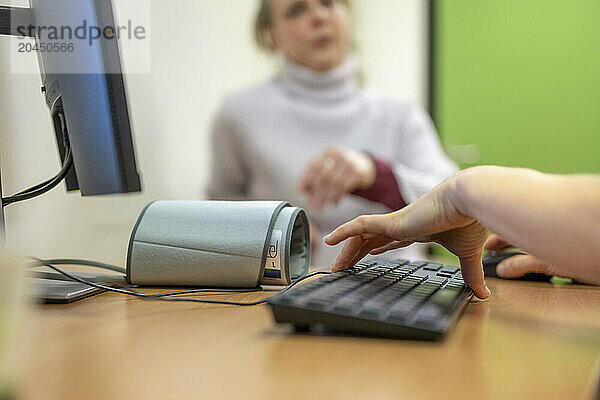
[[460, 259], [465, 283], [480, 299], [489, 297], [483, 277], [483, 247], [488, 231], [458, 200], [457, 175], [410, 206], [385, 215], [365, 215], [326, 236], [334, 246], [349, 239], [332, 271], [351, 267], [367, 254], [381, 254], [415, 242], [436, 242]]

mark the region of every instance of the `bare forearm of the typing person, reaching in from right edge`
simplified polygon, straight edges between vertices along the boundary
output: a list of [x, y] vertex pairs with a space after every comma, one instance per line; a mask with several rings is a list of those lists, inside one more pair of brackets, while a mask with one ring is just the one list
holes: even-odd
[[600, 177], [477, 167], [453, 179], [461, 212], [565, 274], [600, 283]]

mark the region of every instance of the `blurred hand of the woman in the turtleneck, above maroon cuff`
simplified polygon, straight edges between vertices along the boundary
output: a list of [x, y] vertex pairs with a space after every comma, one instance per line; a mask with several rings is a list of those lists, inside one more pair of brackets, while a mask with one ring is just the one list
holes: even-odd
[[368, 155], [350, 149], [330, 149], [312, 161], [298, 184], [298, 190], [321, 210], [337, 205], [344, 195], [368, 189], [375, 182], [375, 163]]

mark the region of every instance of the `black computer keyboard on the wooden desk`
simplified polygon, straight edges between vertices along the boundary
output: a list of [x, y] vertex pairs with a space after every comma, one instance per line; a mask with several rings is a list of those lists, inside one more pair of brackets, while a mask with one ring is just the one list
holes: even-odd
[[473, 296], [459, 267], [366, 260], [269, 301], [275, 321], [299, 331], [439, 340]]

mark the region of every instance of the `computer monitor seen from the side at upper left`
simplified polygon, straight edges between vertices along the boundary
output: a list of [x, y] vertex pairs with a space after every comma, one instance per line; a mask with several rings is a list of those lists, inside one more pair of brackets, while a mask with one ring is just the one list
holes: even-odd
[[106, 34], [116, 30], [111, 1], [30, 0], [30, 6], [32, 25], [20, 31], [36, 39], [63, 162], [66, 124], [73, 157], [67, 189], [83, 196], [140, 191], [119, 46], [116, 35]]

